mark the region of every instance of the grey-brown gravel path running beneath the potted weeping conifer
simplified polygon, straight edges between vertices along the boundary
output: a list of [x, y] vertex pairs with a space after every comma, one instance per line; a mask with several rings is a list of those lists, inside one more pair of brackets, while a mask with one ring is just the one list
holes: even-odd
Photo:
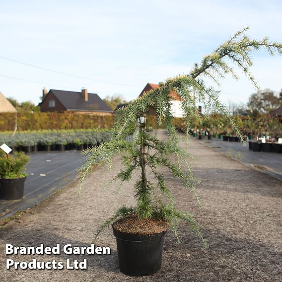
[[[220, 153], [191, 140], [190, 151], [195, 176], [201, 179], [198, 191], [203, 207], [198, 208], [190, 193], [169, 174], [179, 209], [194, 211], [203, 226], [210, 248], [204, 250], [199, 239], [180, 225], [182, 244], [171, 232], [165, 237], [161, 270], [152, 276], [133, 278], [120, 273], [115, 238], [106, 229], [97, 245], [109, 246], [111, 255], [5, 255], [4, 244], [46, 246], [72, 244], [87, 246], [93, 231], [120, 205], [132, 204], [132, 183], [116, 192], [112, 184], [103, 189], [113, 172], [98, 166], [87, 180], [81, 196], [73, 183], [44, 201], [20, 220], [0, 229], [0, 281], [155, 281], [155, 282], [274, 282], [282, 281], [282, 183], [254, 171]], [[165, 172], [166, 173], [166, 172]], [[187, 196], [187, 197], [186, 197]], [[15, 261], [63, 261], [87, 258], [87, 270], [5, 270], [6, 259]]]

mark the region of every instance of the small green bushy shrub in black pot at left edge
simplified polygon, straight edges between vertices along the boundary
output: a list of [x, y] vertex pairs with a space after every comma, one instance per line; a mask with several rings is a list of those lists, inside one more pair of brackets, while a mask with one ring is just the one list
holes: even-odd
[[23, 197], [24, 182], [27, 174], [25, 165], [30, 157], [24, 152], [13, 155], [0, 153], [0, 199], [18, 200]]

